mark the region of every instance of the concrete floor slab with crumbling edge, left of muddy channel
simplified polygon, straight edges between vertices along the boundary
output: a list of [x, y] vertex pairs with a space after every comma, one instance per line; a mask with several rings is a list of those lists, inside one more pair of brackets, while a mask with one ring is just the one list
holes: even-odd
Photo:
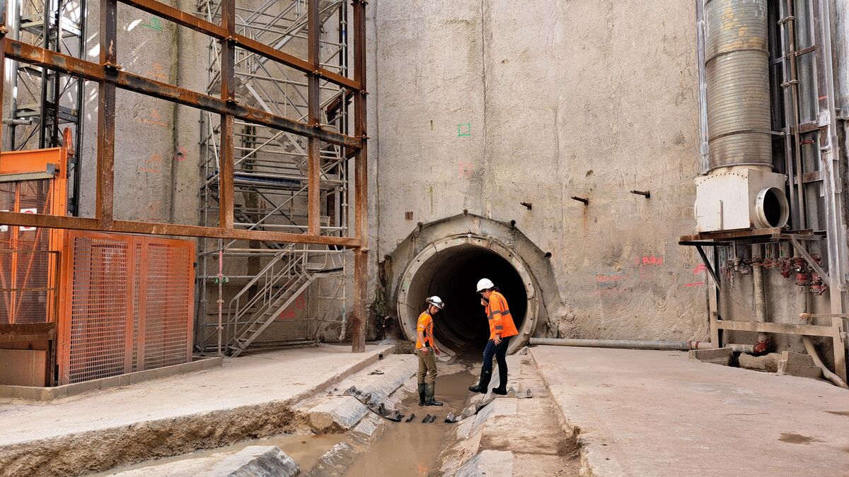
[[[394, 345], [266, 351], [222, 368], [29, 404], [0, 404], [0, 475], [109, 469], [304, 427], [295, 404], [389, 355]], [[80, 452], [85, 449], [86, 452]]]

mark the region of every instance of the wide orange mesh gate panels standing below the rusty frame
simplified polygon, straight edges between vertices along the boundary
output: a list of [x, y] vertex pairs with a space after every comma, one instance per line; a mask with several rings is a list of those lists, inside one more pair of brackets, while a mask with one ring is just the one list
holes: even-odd
[[191, 361], [194, 243], [67, 234], [59, 382]]

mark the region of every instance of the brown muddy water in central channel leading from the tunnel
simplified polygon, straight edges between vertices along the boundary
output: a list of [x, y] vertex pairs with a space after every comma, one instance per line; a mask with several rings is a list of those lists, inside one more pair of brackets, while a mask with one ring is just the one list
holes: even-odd
[[[345, 474], [346, 477], [427, 475], [436, 463], [448, 429], [458, 425], [445, 424], [445, 417], [448, 412], [463, 412], [466, 401], [472, 396], [469, 385], [473, 384], [474, 380], [472, 373], [437, 376], [436, 400], [445, 403], [442, 407], [419, 407], [418, 393], [408, 396], [398, 410], [405, 414], [405, 420], [410, 412], [415, 412], [416, 417], [409, 423], [403, 420], [393, 423], [391, 428], [368, 448], [368, 452], [364, 452], [351, 465]], [[422, 424], [422, 418], [427, 414], [436, 414], [436, 420], [432, 424]]]

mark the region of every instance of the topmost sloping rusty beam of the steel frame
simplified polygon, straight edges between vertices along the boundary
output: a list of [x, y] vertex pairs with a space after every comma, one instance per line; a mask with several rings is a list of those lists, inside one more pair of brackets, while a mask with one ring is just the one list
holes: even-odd
[[155, 2], [155, 0], [121, 0], [121, 3], [138, 8], [139, 10], [143, 10], [149, 14], [155, 14], [165, 20], [171, 20], [177, 25], [185, 26], [194, 31], [199, 31], [200, 33], [212, 36], [218, 40], [229, 39], [235, 45], [239, 46], [239, 48], [243, 48], [250, 53], [256, 53], [267, 59], [272, 59], [282, 65], [294, 68], [295, 70], [303, 71], [304, 73], [317, 74], [325, 80], [340, 87], [346, 87], [351, 91], [361, 89], [361, 85], [363, 84], [359, 81], [351, 81], [350, 78], [341, 76], [333, 71], [325, 70], [321, 66], [313, 68], [312, 63], [309, 61], [304, 61], [296, 56], [283, 53], [282, 51], [274, 49], [266, 44], [252, 40], [247, 36], [237, 34], [234, 31], [235, 29], [228, 29], [224, 25], [216, 25], [194, 15], [187, 14], [178, 8], [170, 7], [164, 3]]

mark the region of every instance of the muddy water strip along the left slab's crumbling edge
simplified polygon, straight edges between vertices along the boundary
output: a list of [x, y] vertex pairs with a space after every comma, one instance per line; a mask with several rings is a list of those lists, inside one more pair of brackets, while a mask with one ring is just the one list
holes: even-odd
[[280, 450], [285, 452], [289, 457], [292, 457], [295, 462], [298, 463], [301, 467], [301, 472], [303, 472], [307, 469], [311, 469], [312, 466], [318, 462], [318, 459], [324, 455], [324, 452], [328, 452], [330, 447], [333, 447], [342, 441], [343, 437], [344, 435], [341, 434], [273, 435], [272, 437], [257, 439], [256, 441], [244, 441], [231, 446], [216, 447], [215, 449], [206, 449], [203, 451], [192, 452], [190, 454], [183, 454], [181, 456], [163, 457], [160, 459], [144, 461], [92, 475], [106, 476], [118, 472], [124, 472], [126, 470], [146, 469], [163, 463], [188, 461], [208, 457], [219, 452], [238, 452], [248, 446], [278, 446]]

